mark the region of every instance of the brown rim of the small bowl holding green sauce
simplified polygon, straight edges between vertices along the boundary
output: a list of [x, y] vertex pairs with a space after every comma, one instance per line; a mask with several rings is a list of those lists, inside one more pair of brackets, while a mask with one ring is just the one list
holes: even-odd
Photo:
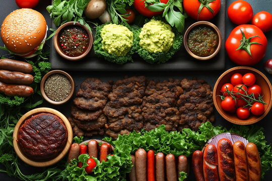
[[[189, 47], [188, 47], [188, 44], [187, 44], [188, 34], [189, 34], [189, 32], [190, 32], [193, 28], [198, 27], [198, 26], [209, 26], [209, 27], [211, 27], [211, 28], [217, 33], [217, 35], [218, 35], [218, 46], [217, 46], [215, 52], [214, 52], [212, 55], [210, 55], [210, 56], [206, 56], [206, 57], [197, 56], [197, 55], [193, 54], [193, 53], [190, 51]], [[207, 22], [207, 21], [199, 21], [199, 22], [196, 22], [196, 23], [192, 24], [192, 25], [186, 30], [186, 32], [185, 32], [185, 34], [184, 34], [184, 37], [183, 37], [183, 44], [184, 44], [185, 50], [188, 52], [188, 54], [189, 54], [191, 57], [193, 57], [193, 58], [195, 58], [195, 59], [197, 59], [197, 60], [209, 60], [209, 59], [212, 59], [213, 57], [215, 57], [215, 56], [218, 54], [218, 52], [220, 51], [221, 46], [222, 46], [222, 34], [221, 34], [220, 30], [217, 28], [217, 26], [215, 26], [214, 24], [212, 24], [212, 23], [210, 23], [210, 22]]]

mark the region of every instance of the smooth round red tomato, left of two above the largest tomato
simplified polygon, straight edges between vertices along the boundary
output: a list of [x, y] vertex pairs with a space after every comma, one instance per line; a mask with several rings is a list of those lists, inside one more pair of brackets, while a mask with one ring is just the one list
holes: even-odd
[[235, 1], [228, 8], [228, 17], [236, 25], [246, 24], [253, 17], [252, 7], [246, 1]]

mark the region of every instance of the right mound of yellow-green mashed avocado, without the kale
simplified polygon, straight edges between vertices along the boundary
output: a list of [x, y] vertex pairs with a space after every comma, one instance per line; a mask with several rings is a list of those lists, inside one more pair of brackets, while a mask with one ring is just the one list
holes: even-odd
[[158, 20], [146, 23], [140, 33], [140, 46], [149, 53], [168, 52], [173, 45], [175, 34], [170, 25]]

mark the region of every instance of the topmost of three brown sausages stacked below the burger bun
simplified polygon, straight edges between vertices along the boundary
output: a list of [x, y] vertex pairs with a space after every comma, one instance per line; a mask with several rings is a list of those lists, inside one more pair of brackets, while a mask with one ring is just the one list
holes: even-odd
[[4, 58], [0, 59], [0, 69], [30, 73], [33, 67], [27, 62]]

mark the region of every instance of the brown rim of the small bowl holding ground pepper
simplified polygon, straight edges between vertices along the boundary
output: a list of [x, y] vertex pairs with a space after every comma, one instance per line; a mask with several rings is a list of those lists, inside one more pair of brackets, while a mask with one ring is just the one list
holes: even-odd
[[[62, 75], [65, 75], [69, 80], [70, 80], [70, 83], [71, 83], [71, 92], [69, 94], [69, 96], [64, 99], [63, 101], [53, 101], [51, 100], [50, 98], [48, 98], [48, 96], [46, 95], [45, 91], [44, 91], [44, 84], [45, 84], [45, 81], [46, 79], [50, 76], [50, 75], [53, 75], [53, 74], [62, 74]], [[42, 80], [41, 80], [41, 84], [40, 84], [40, 89], [41, 89], [41, 94], [42, 94], [42, 97], [50, 104], [52, 105], [62, 105], [66, 102], [68, 102], [74, 95], [75, 93], [75, 82], [72, 78], [72, 76], [69, 74], [69, 73], [66, 73], [62, 70], [52, 70], [48, 73], [46, 73], [43, 77], [42, 77]]]

